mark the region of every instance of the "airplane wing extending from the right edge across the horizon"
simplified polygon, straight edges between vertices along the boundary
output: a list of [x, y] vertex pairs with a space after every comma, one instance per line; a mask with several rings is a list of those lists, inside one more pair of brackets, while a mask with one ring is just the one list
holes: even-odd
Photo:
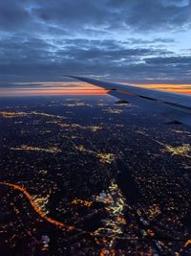
[[191, 126], [191, 96], [166, 91], [140, 88], [130, 84], [99, 81], [83, 77], [70, 77], [92, 83], [108, 90], [108, 94], [146, 111], [162, 114], [166, 123]]

